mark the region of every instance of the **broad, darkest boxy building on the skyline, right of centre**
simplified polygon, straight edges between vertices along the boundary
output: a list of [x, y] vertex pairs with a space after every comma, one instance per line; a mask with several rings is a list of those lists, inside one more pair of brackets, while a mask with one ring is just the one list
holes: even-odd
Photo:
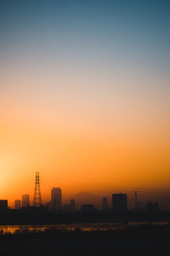
[[127, 212], [127, 194], [113, 194], [112, 207], [115, 212]]

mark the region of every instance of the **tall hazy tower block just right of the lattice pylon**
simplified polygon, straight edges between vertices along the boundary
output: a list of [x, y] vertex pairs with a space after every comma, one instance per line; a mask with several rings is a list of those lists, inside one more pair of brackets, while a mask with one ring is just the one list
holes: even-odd
[[51, 202], [52, 210], [57, 212], [61, 209], [61, 189], [53, 188], [51, 189]]

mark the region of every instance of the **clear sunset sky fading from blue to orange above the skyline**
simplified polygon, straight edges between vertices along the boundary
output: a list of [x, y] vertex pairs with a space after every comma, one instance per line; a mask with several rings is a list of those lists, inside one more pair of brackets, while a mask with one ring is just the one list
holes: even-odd
[[42, 201], [167, 195], [169, 24], [164, 0], [0, 0], [2, 199], [32, 200], [35, 172]]

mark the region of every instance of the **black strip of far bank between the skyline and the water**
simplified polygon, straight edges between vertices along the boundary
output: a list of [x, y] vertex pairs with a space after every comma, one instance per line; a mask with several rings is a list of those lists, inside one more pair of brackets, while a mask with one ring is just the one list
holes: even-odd
[[170, 222], [170, 212], [39, 212], [38, 209], [0, 213], [0, 225]]

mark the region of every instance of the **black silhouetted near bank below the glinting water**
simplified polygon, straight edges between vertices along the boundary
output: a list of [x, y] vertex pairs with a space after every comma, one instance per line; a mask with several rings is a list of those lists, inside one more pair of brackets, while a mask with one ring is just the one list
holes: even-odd
[[138, 225], [124, 230], [20, 230], [0, 235], [1, 255], [169, 256], [170, 225]]

